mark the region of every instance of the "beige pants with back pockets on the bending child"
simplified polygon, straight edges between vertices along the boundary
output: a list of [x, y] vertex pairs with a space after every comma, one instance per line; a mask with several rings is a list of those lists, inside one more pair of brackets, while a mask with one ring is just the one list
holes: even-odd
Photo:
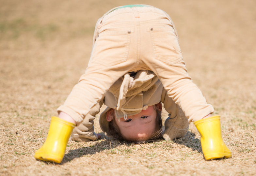
[[116, 80], [137, 70], [152, 70], [189, 122], [214, 111], [187, 73], [172, 20], [155, 7], [119, 8], [98, 20], [86, 72], [58, 111], [81, 123]]

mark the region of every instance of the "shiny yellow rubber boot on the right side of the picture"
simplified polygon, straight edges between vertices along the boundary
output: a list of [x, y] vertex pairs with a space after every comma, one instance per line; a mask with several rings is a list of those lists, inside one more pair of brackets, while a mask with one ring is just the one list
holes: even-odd
[[231, 151], [222, 140], [220, 116], [201, 119], [194, 124], [201, 135], [202, 152], [206, 160], [232, 156]]

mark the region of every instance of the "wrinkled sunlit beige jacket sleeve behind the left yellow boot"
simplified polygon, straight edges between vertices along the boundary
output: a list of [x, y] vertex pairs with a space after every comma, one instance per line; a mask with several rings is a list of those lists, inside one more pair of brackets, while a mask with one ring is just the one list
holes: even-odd
[[94, 122], [95, 116], [100, 112], [100, 108], [104, 103], [104, 98], [91, 108], [89, 113], [85, 116], [81, 124], [74, 127], [71, 140], [78, 142], [87, 142], [89, 140], [97, 140], [97, 134], [94, 132]]

